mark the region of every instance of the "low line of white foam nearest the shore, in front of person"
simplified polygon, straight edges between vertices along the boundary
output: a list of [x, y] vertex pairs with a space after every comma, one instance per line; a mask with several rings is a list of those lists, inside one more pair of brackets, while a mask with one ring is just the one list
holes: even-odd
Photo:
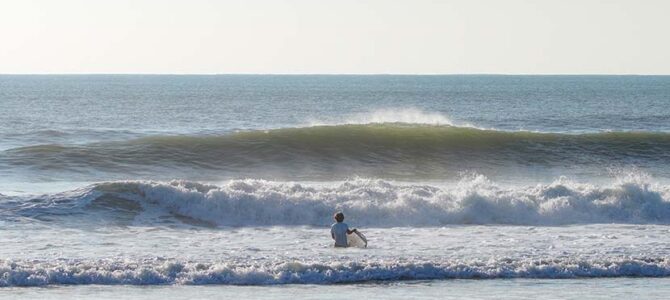
[[49, 284], [334, 284], [380, 280], [667, 277], [667, 259], [490, 259], [444, 262], [3, 261], [0, 287]]

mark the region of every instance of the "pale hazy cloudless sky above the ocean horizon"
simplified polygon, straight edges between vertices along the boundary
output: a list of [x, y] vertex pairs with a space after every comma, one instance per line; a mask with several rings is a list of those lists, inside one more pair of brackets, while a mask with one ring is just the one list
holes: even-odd
[[0, 73], [670, 74], [667, 0], [0, 0]]

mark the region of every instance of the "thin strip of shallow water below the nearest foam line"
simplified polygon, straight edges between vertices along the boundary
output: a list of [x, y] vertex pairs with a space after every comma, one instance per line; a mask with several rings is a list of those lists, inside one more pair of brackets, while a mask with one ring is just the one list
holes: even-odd
[[666, 299], [667, 278], [589, 280], [402, 281], [354, 285], [283, 286], [58, 286], [10, 288], [14, 299]]

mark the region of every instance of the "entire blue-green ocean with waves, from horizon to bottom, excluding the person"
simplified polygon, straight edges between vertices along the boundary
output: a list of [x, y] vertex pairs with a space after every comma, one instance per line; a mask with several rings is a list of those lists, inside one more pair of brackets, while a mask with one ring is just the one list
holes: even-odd
[[669, 236], [670, 76], [0, 76], [3, 296], [666, 299]]

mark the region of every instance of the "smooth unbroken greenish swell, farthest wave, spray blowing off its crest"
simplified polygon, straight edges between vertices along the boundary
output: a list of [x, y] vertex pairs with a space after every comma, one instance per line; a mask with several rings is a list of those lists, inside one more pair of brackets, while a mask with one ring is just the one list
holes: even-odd
[[158, 136], [5, 150], [0, 164], [42, 171], [212, 170], [250, 177], [443, 178], [514, 166], [650, 167], [670, 161], [670, 134], [502, 132], [442, 125], [367, 124]]

